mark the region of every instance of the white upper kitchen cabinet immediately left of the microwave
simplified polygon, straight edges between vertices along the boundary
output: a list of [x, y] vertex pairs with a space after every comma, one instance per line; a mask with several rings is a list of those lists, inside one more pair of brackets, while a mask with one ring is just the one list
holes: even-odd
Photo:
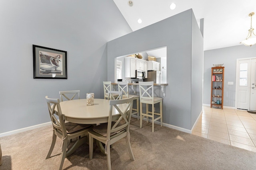
[[136, 60], [133, 57], [124, 58], [124, 77], [135, 78], [136, 77]]

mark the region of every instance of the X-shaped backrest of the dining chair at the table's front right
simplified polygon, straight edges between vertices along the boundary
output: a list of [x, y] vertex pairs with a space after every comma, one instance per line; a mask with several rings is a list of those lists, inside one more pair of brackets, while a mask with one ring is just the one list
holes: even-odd
[[[110, 100], [110, 110], [108, 116], [108, 129], [107, 129], [107, 139], [110, 139], [110, 133], [121, 131], [126, 129], [129, 131], [129, 124], [132, 115], [132, 104], [133, 96], [131, 98], [120, 99], [120, 100]], [[125, 105], [125, 106], [124, 106]], [[118, 119], [112, 121], [112, 111], [118, 111]], [[117, 115], [115, 115], [116, 119]]]

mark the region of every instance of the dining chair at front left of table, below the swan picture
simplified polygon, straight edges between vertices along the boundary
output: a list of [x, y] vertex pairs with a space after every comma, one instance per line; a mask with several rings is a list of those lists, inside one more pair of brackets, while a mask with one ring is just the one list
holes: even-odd
[[[61, 170], [65, 157], [72, 154], [72, 152], [74, 152], [74, 150], [76, 150], [79, 147], [78, 145], [79, 143], [81, 143], [81, 141], [86, 141], [86, 138], [88, 136], [88, 130], [91, 129], [93, 126], [86, 124], [76, 124], [71, 122], [65, 123], [60, 108], [60, 100], [50, 99], [48, 98], [48, 96], [46, 96], [45, 98], [53, 127], [52, 144], [46, 156], [46, 159], [50, 158], [52, 150], [54, 149], [54, 145], [56, 143], [56, 137], [58, 136], [60, 139], [62, 139], [62, 152], [60, 156], [59, 166], [59, 169]], [[71, 149], [67, 151], [68, 140], [79, 136], [83, 137], [79, 138], [71, 147]]]

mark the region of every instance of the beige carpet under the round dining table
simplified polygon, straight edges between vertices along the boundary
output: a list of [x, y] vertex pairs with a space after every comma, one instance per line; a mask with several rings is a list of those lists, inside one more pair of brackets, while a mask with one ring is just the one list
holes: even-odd
[[[130, 160], [125, 139], [110, 149], [113, 170], [253, 170], [256, 153], [132, 118], [130, 137], [135, 160]], [[52, 126], [0, 138], [0, 170], [54, 170], [60, 161], [60, 139], [52, 157], [45, 159], [52, 141]], [[55, 156], [54, 156], [55, 155]], [[63, 169], [104, 170], [106, 156], [98, 148], [89, 160], [87, 144], [65, 158]]]

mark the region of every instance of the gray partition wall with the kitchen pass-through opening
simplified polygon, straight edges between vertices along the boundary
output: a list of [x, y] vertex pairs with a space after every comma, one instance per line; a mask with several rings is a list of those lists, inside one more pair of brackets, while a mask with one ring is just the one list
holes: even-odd
[[[114, 82], [115, 57], [167, 47], [167, 83], [169, 85], [166, 86], [166, 97], [161, 96], [164, 98], [163, 121], [184, 129], [191, 129], [194, 124], [191, 122], [192, 111], [193, 117], [196, 117], [202, 110], [202, 97], [199, 97], [200, 101], [193, 103], [196, 106], [191, 108], [191, 95], [195, 93], [192, 90], [202, 91], [202, 77], [201, 86], [192, 88], [194, 74], [202, 75], [200, 65], [198, 68], [192, 66], [192, 60], [194, 60], [192, 57], [196, 57], [200, 60], [199, 63], [202, 63], [203, 39], [195, 24], [196, 20], [190, 9], [108, 42], [108, 80], [112, 82]], [[196, 45], [192, 47], [193, 43]], [[201, 52], [194, 51], [197, 47]], [[200, 107], [201, 109], [198, 110]], [[198, 112], [194, 113], [197, 110]]]

